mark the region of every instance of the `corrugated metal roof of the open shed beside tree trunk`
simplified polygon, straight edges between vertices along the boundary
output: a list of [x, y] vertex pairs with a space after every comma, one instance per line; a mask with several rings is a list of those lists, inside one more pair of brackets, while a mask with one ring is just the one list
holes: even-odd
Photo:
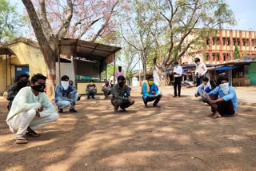
[[85, 60], [101, 62], [106, 60], [107, 63], [114, 62], [114, 54], [121, 50], [121, 47], [107, 46], [95, 42], [86, 42], [78, 39], [62, 38], [58, 42], [61, 56], [70, 58], [76, 53], [76, 57]]

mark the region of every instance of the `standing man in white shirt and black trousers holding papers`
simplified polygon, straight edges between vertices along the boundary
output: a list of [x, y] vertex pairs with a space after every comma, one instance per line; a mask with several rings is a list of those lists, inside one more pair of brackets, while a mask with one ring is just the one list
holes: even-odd
[[178, 66], [178, 62], [174, 62], [174, 97], [177, 97], [177, 86], [178, 86], [178, 97], [181, 97], [182, 88], [182, 66]]

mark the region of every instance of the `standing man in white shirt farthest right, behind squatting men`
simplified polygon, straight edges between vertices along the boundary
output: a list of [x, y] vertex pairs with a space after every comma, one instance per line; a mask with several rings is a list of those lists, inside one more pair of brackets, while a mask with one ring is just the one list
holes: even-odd
[[206, 74], [207, 72], [207, 67], [206, 64], [204, 64], [203, 62], [200, 62], [199, 58], [195, 58], [194, 62], [196, 63], [196, 69], [195, 69], [195, 76], [196, 76], [196, 81], [197, 81], [197, 85], [199, 86], [202, 84], [202, 77]]

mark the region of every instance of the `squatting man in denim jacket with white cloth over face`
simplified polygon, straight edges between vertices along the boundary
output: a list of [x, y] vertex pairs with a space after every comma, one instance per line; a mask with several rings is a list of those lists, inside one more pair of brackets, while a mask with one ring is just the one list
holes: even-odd
[[58, 106], [58, 112], [63, 113], [63, 109], [70, 107], [71, 113], [76, 113], [74, 109], [75, 103], [78, 101], [77, 90], [69, 84], [70, 78], [67, 75], [63, 75], [61, 84], [55, 88], [55, 104]]

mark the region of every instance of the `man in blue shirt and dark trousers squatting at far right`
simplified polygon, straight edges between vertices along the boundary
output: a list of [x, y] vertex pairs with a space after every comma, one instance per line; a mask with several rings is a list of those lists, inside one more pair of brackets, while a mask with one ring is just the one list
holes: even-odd
[[234, 87], [229, 85], [229, 79], [225, 76], [218, 78], [218, 86], [207, 93], [206, 98], [212, 106], [213, 113], [210, 117], [213, 119], [233, 116], [238, 106], [238, 98]]

